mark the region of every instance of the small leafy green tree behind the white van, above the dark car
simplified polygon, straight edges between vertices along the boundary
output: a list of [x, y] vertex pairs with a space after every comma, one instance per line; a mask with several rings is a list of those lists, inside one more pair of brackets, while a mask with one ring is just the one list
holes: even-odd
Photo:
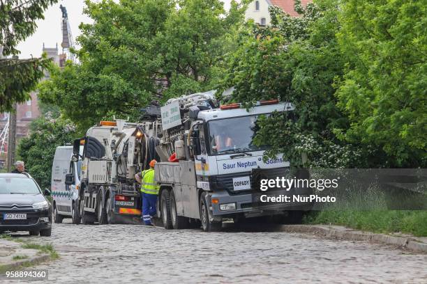
[[31, 123], [30, 134], [20, 140], [17, 155], [42, 189], [50, 188], [52, 162], [57, 146], [79, 136], [70, 121], [40, 117]]

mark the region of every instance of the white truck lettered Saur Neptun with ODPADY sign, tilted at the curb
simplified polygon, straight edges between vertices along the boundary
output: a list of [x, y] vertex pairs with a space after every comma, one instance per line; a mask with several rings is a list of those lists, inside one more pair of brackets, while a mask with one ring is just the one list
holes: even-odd
[[[282, 155], [264, 161], [268, 147], [253, 143], [260, 116], [293, 111], [294, 106], [270, 100], [250, 109], [237, 103], [219, 107], [214, 93], [179, 97], [161, 108], [161, 161], [155, 166], [155, 180], [160, 184], [158, 216], [165, 228], [201, 223], [204, 231], [216, 231], [226, 219], [278, 214], [301, 219], [304, 204], [260, 202], [265, 194], [260, 179], [286, 176], [290, 163]], [[167, 161], [170, 156], [174, 162]], [[278, 189], [268, 194], [293, 192]]]

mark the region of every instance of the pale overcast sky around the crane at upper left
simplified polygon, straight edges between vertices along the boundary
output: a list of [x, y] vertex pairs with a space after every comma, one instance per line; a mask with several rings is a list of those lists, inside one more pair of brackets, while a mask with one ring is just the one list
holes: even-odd
[[[231, 0], [223, 0], [225, 8], [230, 6]], [[79, 25], [83, 23], [91, 23], [91, 19], [83, 14], [84, 0], [62, 0], [57, 4], [50, 6], [45, 10], [45, 19], [37, 21], [36, 32], [29, 36], [27, 40], [20, 42], [17, 49], [20, 50], [20, 58], [40, 57], [42, 54], [43, 43], [45, 47], [56, 47], [58, 44], [59, 53], [61, 49], [61, 10], [59, 5], [65, 6], [68, 13], [68, 21], [70, 22], [71, 33], [75, 42], [75, 38], [80, 35]], [[76, 43], [76, 42], [75, 42]], [[78, 46], [77, 46], [78, 48]]]

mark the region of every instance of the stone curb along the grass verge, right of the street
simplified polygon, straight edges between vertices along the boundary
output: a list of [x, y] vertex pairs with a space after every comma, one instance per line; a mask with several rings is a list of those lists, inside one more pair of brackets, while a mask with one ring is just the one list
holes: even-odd
[[282, 225], [279, 228], [282, 232], [305, 232], [324, 237], [337, 237], [350, 241], [367, 241], [380, 244], [389, 244], [392, 246], [400, 246], [411, 251], [427, 253], [427, 244], [414, 241], [412, 238], [395, 237], [384, 234], [374, 234], [372, 232], [346, 231], [336, 230], [334, 228], [324, 228], [321, 226], [310, 225]]

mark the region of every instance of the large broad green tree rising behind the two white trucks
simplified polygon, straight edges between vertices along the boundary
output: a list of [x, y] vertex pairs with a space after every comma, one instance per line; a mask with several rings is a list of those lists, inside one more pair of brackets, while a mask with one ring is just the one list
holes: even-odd
[[83, 128], [113, 114], [135, 120], [151, 100], [215, 86], [244, 15], [219, 0], [86, 3], [94, 23], [80, 26], [80, 65], [54, 70], [39, 96]]

